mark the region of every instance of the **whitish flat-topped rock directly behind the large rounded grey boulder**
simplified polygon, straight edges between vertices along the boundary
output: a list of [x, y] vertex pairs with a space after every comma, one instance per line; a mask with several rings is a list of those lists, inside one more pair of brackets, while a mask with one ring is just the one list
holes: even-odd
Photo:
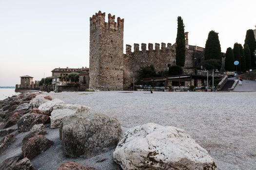
[[77, 113], [89, 113], [90, 107], [79, 104], [59, 103], [53, 107], [51, 113], [51, 128], [59, 128], [63, 118]]

